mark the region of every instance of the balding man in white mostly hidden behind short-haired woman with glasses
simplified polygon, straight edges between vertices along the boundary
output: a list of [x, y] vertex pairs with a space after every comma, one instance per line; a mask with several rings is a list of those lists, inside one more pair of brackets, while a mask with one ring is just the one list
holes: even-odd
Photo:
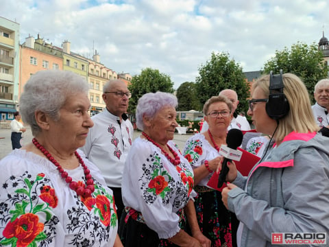
[[[228, 126], [228, 130], [231, 128], [237, 128], [239, 130], [251, 130], [249, 122], [247, 121], [246, 117], [243, 117], [241, 115], [237, 115], [235, 113], [236, 108], [238, 107], [239, 100], [238, 95], [236, 94], [236, 91], [232, 89], [224, 89], [219, 92], [219, 95], [224, 95], [230, 99], [232, 102], [232, 120], [230, 123], [230, 126]], [[208, 131], [208, 123], [204, 121], [204, 125], [202, 126], [202, 133]]]

